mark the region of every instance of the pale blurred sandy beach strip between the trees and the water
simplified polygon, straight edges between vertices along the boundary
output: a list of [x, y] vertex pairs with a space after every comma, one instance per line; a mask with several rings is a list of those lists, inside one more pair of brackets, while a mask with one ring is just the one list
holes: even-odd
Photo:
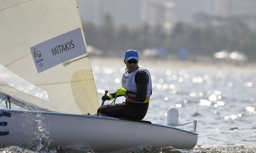
[[[116, 64], [124, 64], [123, 57], [115, 56], [90, 56], [90, 61], [92, 65], [106, 65], [113, 66]], [[222, 70], [222, 71], [239, 71], [239, 72], [255, 72], [256, 63], [247, 63], [244, 65], [237, 65], [234, 63], [228, 63], [225, 61], [216, 61], [216, 62], [194, 62], [191, 60], [177, 60], [177, 59], [159, 59], [159, 58], [150, 58], [150, 59], [141, 59], [139, 64], [145, 67], [166, 67], [170, 69], [191, 69], [191, 70]], [[125, 65], [123, 65], [125, 66]]]

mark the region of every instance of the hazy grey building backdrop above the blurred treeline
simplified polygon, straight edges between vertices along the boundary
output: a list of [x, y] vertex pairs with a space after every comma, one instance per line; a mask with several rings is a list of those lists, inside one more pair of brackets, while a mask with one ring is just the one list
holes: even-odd
[[[77, 0], [82, 22], [101, 25], [104, 15], [112, 16], [115, 25], [140, 26], [147, 22], [171, 29], [176, 22], [193, 23], [196, 13], [230, 17], [256, 17], [254, 0]], [[256, 27], [255, 20], [251, 24]]]

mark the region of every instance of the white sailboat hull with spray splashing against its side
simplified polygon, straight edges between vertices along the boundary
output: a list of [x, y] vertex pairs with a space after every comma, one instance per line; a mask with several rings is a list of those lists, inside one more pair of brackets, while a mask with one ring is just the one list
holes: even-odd
[[0, 148], [46, 144], [49, 148], [87, 146], [95, 152], [141, 146], [190, 149], [197, 144], [198, 136], [192, 131], [160, 124], [37, 111], [0, 110], [0, 125]]

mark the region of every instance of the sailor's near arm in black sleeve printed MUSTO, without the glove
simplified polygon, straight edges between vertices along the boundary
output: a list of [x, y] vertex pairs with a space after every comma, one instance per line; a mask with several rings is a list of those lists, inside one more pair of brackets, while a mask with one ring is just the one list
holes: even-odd
[[144, 102], [147, 98], [148, 89], [148, 74], [144, 71], [139, 71], [135, 74], [135, 83], [137, 84], [137, 92], [127, 90], [128, 98]]

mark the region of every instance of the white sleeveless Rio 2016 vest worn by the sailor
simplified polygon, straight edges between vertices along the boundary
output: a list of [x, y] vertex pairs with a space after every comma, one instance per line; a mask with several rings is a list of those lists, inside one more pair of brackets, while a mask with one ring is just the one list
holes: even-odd
[[[147, 100], [145, 102], [148, 102], [149, 97], [151, 96], [151, 90], [152, 90], [151, 76], [149, 71], [145, 67], [141, 65], [138, 65], [138, 66], [139, 67], [136, 70], [132, 71], [131, 73], [128, 73], [128, 70], [126, 69], [122, 78], [122, 87], [129, 91], [137, 92], [137, 85], [135, 83], [135, 74], [139, 71], [146, 72], [148, 74], [148, 89], [147, 89]], [[126, 95], [125, 97], [128, 98], [128, 96]], [[132, 101], [136, 103], [142, 103], [140, 101], [135, 101], [135, 100], [132, 100]]]

